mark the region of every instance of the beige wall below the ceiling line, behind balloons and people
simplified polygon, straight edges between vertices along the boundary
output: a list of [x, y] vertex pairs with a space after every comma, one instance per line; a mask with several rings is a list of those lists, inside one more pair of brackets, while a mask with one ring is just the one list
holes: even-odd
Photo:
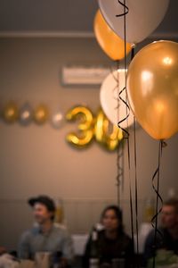
[[[96, 113], [100, 106], [100, 88], [65, 88], [61, 86], [61, 66], [66, 63], [110, 64], [93, 38], [1, 38], [0, 105], [14, 100], [28, 101], [34, 107], [47, 104], [63, 113], [73, 105], [89, 106]], [[117, 201], [117, 154], [99, 145], [83, 151], [70, 147], [66, 134], [75, 124], [65, 123], [61, 130], [31, 124], [7, 125], [0, 121], [0, 240], [14, 248], [20, 232], [31, 225], [26, 204], [28, 197], [47, 194], [64, 201], [71, 232], [85, 232], [98, 220], [104, 205]], [[130, 149], [134, 180], [134, 138], [130, 130]], [[153, 196], [151, 176], [158, 163], [158, 142], [142, 128], [136, 130], [140, 221], [147, 197]], [[161, 167], [161, 193], [177, 188], [178, 138], [168, 140]], [[122, 205], [126, 230], [129, 227], [128, 165], [125, 145], [125, 187]]]

